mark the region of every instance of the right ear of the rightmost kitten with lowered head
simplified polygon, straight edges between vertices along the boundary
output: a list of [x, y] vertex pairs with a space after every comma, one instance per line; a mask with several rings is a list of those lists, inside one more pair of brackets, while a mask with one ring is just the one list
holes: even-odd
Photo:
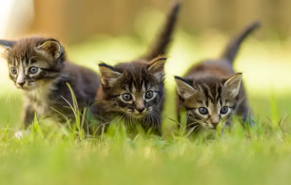
[[232, 96], [237, 96], [239, 93], [240, 85], [242, 81], [242, 73], [232, 75], [225, 83], [224, 87], [230, 91]]

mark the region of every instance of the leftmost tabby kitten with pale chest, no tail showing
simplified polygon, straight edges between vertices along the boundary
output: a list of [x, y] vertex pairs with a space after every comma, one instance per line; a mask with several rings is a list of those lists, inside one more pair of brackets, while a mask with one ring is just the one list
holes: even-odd
[[[73, 99], [66, 82], [76, 96], [79, 109], [94, 103], [100, 81], [90, 69], [66, 59], [59, 41], [52, 38], [27, 37], [18, 41], [0, 40], [7, 48], [9, 77], [25, 97], [23, 124], [28, 127], [38, 118], [51, 117], [56, 122], [75, 119], [71, 109]], [[53, 109], [52, 109], [53, 108]]]

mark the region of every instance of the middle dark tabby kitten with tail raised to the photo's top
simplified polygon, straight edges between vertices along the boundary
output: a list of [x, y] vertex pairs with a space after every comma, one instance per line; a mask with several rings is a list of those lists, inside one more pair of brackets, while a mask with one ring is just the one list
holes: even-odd
[[165, 27], [147, 55], [115, 66], [99, 64], [102, 85], [96, 96], [98, 103], [91, 108], [97, 127], [120, 115], [126, 124], [140, 123], [144, 129], [160, 134], [165, 98], [166, 57], [163, 55], [170, 42], [179, 7], [180, 2], [175, 2]]

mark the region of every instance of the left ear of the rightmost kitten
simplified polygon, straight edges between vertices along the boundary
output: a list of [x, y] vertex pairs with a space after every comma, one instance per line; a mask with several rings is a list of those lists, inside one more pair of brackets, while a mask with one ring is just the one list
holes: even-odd
[[179, 76], [174, 76], [174, 78], [177, 84], [177, 93], [183, 99], [187, 99], [195, 93], [195, 89], [189, 85], [189, 80]]

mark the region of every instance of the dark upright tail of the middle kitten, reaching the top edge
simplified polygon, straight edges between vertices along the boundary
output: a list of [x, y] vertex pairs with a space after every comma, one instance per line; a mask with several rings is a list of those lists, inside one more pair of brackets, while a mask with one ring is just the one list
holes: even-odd
[[180, 4], [181, 0], [175, 0], [174, 6], [172, 7], [171, 11], [167, 16], [166, 23], [162, 28], [162, 31], [157, 36], [157, 39], [154, 42], [153, 46], [151, 47], [150, 51], [142, 58], [151, 60], [157, 56], [165, 55], [167, 46], [171, 41], [171, 36], [174, 31]]

